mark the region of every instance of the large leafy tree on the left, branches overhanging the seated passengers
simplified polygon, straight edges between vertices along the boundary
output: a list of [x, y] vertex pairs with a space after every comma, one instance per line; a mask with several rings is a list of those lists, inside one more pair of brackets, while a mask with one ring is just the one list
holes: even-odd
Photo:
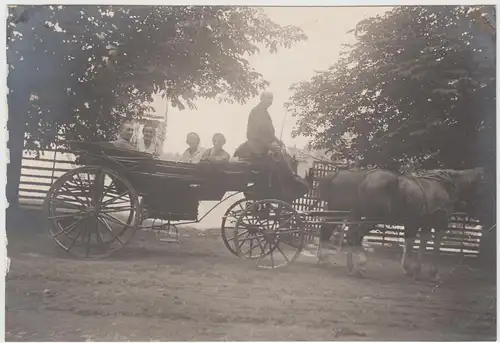
[[306, 39], [261, 9], [230, 6], [11, 7], [7, 25], [9, 202], [23, 148], [114, 138], [158, 92], [181, 108], [244, 102], [267, 85], [245, 57]]

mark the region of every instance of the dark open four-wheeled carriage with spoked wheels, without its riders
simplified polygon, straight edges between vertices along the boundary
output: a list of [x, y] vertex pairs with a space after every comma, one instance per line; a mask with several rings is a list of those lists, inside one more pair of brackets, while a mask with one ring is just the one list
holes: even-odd
[[[222, 218], [229, 251], [257, 259], [263, 267], [268, 259], [274, 268], [296, 259], [302, 249], [304, 227], [285, 200], [290, 199], [285, 194], [290, 185], [280, 183], [282, 175], [271, 158], [190, 164], [153, 159], [109, 142], [71, 144], [81, 166], [52, 185], [44, 208], [51, 237], [74, 255], [106, 256], [148, 227], [148, 218], [161, 220], [155, 226], [160, 230], [198, 222], [204, 218], [198, 218], [200, 201], [220, 204], [238, 193], [244, 199]], [[233, 194], [224, 197], [228, 192]]]

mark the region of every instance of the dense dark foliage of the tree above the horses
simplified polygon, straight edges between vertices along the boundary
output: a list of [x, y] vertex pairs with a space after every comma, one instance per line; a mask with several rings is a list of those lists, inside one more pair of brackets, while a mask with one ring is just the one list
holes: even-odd
[[[398, 168], [495, 166], [494, 7], [396, 7], [359, 22], [340, 60], [291, 87], [295, 135]], [[494, 30], [494, 29], [493, 29]]]

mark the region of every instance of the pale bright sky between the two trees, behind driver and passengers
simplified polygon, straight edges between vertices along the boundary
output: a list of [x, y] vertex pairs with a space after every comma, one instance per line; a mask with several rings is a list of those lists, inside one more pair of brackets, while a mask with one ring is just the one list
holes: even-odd
[[[367, 18], [381, 14], [387, 7], [266, 7], [268, 16], [280, 25], [295, 25], [302, 28], [308, 40], [290, 49], [281, 49], [271, 54], [261, 50], [250, 56], [251, 65], [270, 82], [269, 91], [274, 94], [274, 103], [269, 109], [279, 136], [284, 122], [282, 140], [288, 146], [303, 147], [307, 138], [293, 139], [295, 119], [286, 115], [284, 108], [292, 92], [289, 87], [296, 82], [307, 81], [315, 71], [327, 69], [340, 57], [342, 44], [353, 43], [353, 34], [347, 31]], [[245, 105], [219, 104], [216, 100], [198, 100], [196, 110], [169, 108], [164, 152], [182, 153], [186, 148], [186, 135], [194, 131], [200, 135], [201, 145], [212, 145], [212, 135], [221, 132], [226, 136], [225, 149], [232, 154], [246, 140], [246, 125], [250, 110], [258, 103], [258, 97]], [[157, 113], [165, 113], [166, 103], [157, 98], [153, 104]]]

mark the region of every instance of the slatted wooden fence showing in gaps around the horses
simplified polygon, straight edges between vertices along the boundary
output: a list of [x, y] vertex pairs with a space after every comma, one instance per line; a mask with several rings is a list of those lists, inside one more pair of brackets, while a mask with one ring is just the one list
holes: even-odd
[[[319, 202], [317, 199], [317, 181], [316, 179], [326, 175], [329, 172], [345, 169], [346, 166], [335, 163], [315, 161], [313, 164], [314, 184], [313, 190], [306, 194], [303, 198], [298, 199], [294, 203], [294, 207], [299, 211], [315, 210], [320, 211], [326, 209], [326, 204]], [[313, 218], [304, 218], [308, 230], [308, 242], [312, 244], [319, 243], [319, 228], [321, 221]], [[367, 235], [367, 242], [374, 246], [384, 248], [400, 249], [404, 243], [404, 228], [401, 226], [378, 224]], [[465, 214], [456, 213], [450, 223], [448, 230], [441, 242], [441, 251], [451, 254], [477, 255], [481, 241], [482, 228], [480, 223], [474, 218], [469, 218]], [[417, 239], [415, 248], [418, 248], [420, 241]], [[433, 249], [433, 241], [426, 244], [428, 250]]]

